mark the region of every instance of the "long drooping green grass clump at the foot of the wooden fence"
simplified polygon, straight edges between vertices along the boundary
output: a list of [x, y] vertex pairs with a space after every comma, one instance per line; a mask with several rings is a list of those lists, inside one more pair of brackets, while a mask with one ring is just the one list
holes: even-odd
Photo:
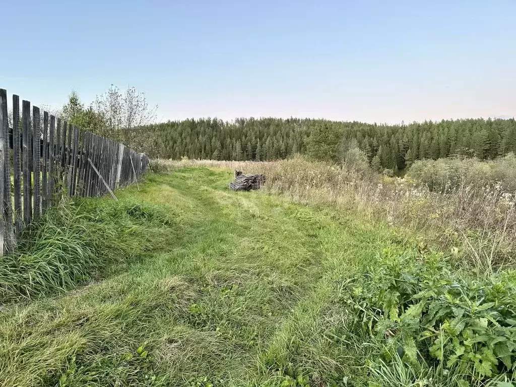
[[0, 302], [32, 299], [102, 278], [163, 244], [173, 220], [157, 206], [64, 200], [37, 218], [2, 257]]

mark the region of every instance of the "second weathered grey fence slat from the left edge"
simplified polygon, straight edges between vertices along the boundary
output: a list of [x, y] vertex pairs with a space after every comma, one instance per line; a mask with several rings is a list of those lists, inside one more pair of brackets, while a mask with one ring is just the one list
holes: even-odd
[[22, 165], [20, 148], [20, 97], [12, 96], [12, 167], [14, 170], [14, 232], [15, 236], [22, 231]]

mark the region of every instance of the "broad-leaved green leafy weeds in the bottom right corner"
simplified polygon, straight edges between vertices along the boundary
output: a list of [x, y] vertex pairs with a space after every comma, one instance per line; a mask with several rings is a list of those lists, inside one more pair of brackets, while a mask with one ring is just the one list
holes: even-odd
[[470, 280], [453, 275], [441, 254], [397, 254], [384, 249], [365, 279], [345, 298], [352, 329], [382, 348], [382, 361], [399, 356], [469, 375], [458, 385], [511, 376], [516, 367], [516, 282], [510, 275]]

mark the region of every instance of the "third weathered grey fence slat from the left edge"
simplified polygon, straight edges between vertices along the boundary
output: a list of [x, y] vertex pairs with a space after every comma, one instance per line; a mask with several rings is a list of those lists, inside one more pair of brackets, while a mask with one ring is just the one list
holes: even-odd
[[30, 102], [22, 102], [22, 157], [23, 157], [23, 220], [29, 224], [32, 220], [32, 163], [30, 157], [31, 137], [30, 137]]

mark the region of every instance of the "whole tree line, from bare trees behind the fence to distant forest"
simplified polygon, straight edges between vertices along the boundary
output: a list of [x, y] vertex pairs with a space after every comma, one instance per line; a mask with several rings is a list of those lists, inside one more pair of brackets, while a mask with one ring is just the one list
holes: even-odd
[[397, 125], [298, 118], [186, 119], [154, 123], [156, 107], [134, 88], [114, 86], [88, 108], [72, 92], [62, 116], [126, 143], [151, 158], [276, 160], [294, 154], [341, 162], [360, 149], [377, 171], [396, 172], [415, 160], [462, 155], [481, 160], [516, 153], [516, 121], [460, 119]]

